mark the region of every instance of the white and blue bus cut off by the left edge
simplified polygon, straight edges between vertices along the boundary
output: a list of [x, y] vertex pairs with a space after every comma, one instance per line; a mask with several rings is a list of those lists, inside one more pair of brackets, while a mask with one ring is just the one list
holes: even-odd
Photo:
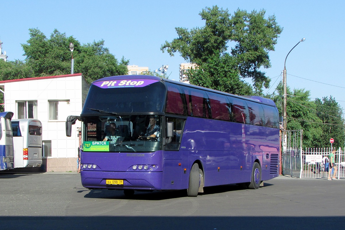
[[13, 169], [13, 112], [0, 112], [0, 170]]

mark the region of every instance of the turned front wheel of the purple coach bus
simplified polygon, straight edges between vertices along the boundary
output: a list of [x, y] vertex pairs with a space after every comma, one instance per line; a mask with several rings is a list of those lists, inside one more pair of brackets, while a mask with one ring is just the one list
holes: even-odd
[[204, 172], [200, 162], [194, 162], [189, 173], [189, 183], [187, 189], [188, 197], [198, 196], [198, 192], [204, 192]]

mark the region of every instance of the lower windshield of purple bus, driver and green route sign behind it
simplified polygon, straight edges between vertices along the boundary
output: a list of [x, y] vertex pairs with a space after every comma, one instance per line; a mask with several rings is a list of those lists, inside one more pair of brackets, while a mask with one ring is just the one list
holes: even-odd
[[155, 152], [161, 150], [161, 116], [85, 117], [83, 151]]

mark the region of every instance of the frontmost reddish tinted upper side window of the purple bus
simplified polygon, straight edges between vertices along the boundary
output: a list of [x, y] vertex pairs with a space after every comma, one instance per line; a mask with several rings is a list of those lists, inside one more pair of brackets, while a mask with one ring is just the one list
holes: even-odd
[[172, 114], [186, 115], [184, 97], [180, 87], [168, 82], [166, 84], [168, 96], [165, 111]]

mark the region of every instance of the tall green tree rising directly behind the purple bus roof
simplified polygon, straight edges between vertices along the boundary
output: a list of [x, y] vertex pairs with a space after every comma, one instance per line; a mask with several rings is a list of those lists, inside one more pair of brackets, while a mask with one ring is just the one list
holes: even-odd
[[[235, 94], [253, 94], [252, 87], [244, 81], [253, 81], [256, 93], [268, 87], [270, 79], [260, 71], [269, 68], [268, 52], [274, 50], [278, 35], [282, 32], [275, 16], [265, 19], [265, 10], [237, 10], [233, 16], [228, 10], [213, 6], [203, 9], [199, 15], [205, 26], [175, 28], [178, 38], [161, 46], [174, 56], [179, 52], [187, 62], [197, 64], [187, 71], [192, 84]], [[228, 52], [228, 44], [235, 43]]]

